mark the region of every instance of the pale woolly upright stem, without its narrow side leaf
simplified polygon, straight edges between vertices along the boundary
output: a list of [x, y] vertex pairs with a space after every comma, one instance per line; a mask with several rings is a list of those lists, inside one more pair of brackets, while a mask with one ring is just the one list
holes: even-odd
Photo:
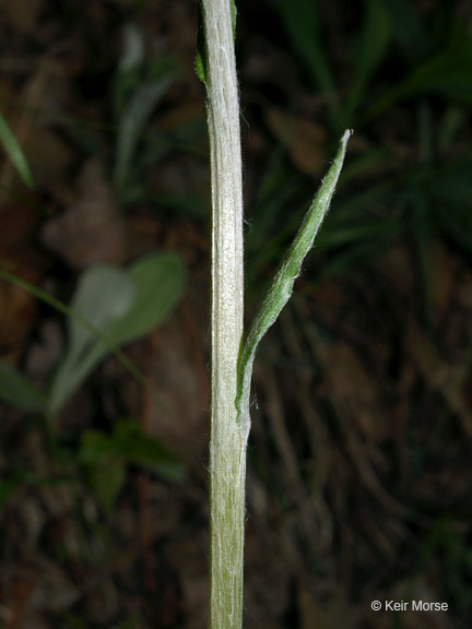
[[210, 629], [239, 629], [248, 425], [237, 424], [243, 335], [243, 182], [229, 0], [202, 0], [212, 181]]

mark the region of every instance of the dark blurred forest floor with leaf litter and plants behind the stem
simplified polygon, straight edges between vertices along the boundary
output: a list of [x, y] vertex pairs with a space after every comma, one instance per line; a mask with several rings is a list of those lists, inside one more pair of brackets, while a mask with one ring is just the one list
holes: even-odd
[[[256, 366], [245, 627], [469, 627], [470, 3], [237, 4], [248, 317], [355, 129]], [[0, 8], [5, 629], [205, 626], [196, 39], [190, 0]]]

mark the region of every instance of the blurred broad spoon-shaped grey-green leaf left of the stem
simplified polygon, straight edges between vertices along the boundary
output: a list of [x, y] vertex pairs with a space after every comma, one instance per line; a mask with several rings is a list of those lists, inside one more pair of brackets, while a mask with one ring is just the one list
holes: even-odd
[[85, 272], [72, 309], [93, 323], [108, 341], [70, 321], [70, 344], [52, 382], [48, 410], [56, 414], [81, 385], [109, 346], [140, 339], [170, 313], [184, 289], [184, 264], [172, 253], [141, 258], [127, 271], [95, 268]]

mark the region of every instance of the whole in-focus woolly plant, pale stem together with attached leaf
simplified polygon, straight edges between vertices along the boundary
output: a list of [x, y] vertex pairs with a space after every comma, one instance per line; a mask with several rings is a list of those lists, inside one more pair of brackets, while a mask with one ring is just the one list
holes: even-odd
[[243, 624], [246, 450], [257, 346], [288, 301], [328, 212], [351, 131], [341, 145], [249, 333], [243, 336], [243, 186], [233, 0], [201, 0], [196, 70], [205, 87], [212, 189], [210, 621]]

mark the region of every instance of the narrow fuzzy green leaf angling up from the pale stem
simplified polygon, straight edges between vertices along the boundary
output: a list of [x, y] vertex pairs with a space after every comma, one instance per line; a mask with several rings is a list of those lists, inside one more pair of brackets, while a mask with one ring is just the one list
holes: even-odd
[[288, 301], [295, 280], [298, 277], [302, 264], [314, 245], [315, 237], [329, 210], [334, 193], [341, 168], [344, 162], [347, 141], [352, 131], [347, 130], [341, 139], [341, 146], [331, 168], [328, 170], [322, 183], [307, 212], [304, 222], [296, 235], [291, 248], [281, 262], [272, 286], [256, 316], [249, 330], [246, 342], [243, 345], [239, 368], [236, 407], [238, 411], [238, 424], [249, 423], [249, 395], [252, 377], [252, 365], [256, 349], [266, 334], [279, 317], [282, 308]]

